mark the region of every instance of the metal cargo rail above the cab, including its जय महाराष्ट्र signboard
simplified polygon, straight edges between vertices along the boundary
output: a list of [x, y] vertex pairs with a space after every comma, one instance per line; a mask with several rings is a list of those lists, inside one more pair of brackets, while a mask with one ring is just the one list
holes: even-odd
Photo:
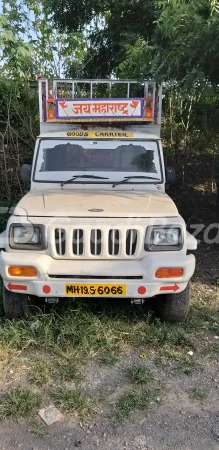
[[77, 128], [85, 123], [160, 128], [162, 86], [147, 80], [40, 78], [39, 105], [41, 131], [48, 125], [60, 131], [60, 123], [77, 124]]

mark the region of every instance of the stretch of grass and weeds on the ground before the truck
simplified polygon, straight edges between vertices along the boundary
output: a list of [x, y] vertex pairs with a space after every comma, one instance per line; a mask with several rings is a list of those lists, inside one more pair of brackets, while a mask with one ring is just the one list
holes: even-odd
[[[113, 423], [159, 407], [166, 379], [183, 376], [189, 383], [219, 358], [218, 288], [212, 288], [208, 295], [194, 282], [191, 312], [180, 325], [161, 322], [153, 308], [107, 301], [65, 302], [27, 320], [1, 318], [0, 419], [26, 416], [30, 428], [41, 433], [36, 412], [52, 403], [65, 415], [92, 420], [109, 396], [107, 386], [103, 392], [88, 388], [93, 365], [98, 374], [116, 373], [125, 364], [121, 393], [108, 405]], [[130, 354], [134, 359], [127, 363]], [[188, 395], [194, 401], [208, 398], [199, 386]]]

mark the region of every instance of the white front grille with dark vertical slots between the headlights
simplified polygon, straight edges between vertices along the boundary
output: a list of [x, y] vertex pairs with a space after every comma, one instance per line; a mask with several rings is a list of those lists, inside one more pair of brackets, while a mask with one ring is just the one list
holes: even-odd
[[59, 259], [136, 258], [143, 248], [144, 239], [139, 230], [125, 227], [55, 228], [52, 236], [52, 256]]

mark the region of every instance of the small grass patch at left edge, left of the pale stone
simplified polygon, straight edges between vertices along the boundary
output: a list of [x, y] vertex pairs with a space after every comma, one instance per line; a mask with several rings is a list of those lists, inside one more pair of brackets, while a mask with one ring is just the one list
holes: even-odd
[[27, 388], [0, 394], [0, 420], [29, 417], [41, 405], [41, 395]]

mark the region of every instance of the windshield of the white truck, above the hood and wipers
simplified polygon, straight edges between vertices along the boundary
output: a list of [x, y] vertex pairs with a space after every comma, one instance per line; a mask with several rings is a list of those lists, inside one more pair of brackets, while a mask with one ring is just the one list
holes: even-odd
[[[156, 141], [40, 141], [35, 181], [63, 182], [76, 175], [103, 175], [109, 181], [121, 177], [148, 175], [161, 181], [159, 148]], [[80, 180], [79, 183], [95, 183]], [[100, 181], [99, 181], [100, 182]], [[133, 179], [133, 182], [135, 180]], [[147, 180], [141, 180], [147, 182]], [[148, 180], [148, 182], [153, 182]]]

